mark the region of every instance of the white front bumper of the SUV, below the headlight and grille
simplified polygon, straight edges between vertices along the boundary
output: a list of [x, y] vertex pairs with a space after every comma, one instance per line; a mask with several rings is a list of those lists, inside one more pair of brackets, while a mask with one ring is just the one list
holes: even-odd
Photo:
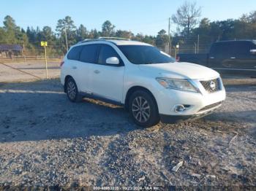
[[[211, 112], [212, 109], [217, 109], [226, 98], [225, 87], [221, 82], [220, 90], [214, 93], [208, 93], [199, 80], [195, 80], [200, 93], [186, 92], [181, 90], [173, 90], [161, 88], [155, 93], [157, 106], [160, 115], [175, 116], [173, 118], [191, 118], [197, 115], [204, 115]], [[177, 112], [175, 106], [182, 105], [186, 109], [182, 112]], [[166, 118], [166, 117], [164, 117]], [[168, 118], [168, 117], [167, 117]]]

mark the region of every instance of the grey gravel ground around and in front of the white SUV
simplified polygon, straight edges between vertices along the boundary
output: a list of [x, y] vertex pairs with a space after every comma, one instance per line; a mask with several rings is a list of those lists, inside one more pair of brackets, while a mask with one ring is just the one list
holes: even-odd
[[118, 106], [70, 103], [59, 79], [0, 83], [0, 185], [255, 187], [256, 79], [225, 84], [214, 114], [143, 129]]

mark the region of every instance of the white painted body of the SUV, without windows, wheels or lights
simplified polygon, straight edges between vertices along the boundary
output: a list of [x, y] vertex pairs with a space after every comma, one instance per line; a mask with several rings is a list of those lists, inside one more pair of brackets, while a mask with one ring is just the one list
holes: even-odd
[[[75, 46], [83, 44], [108, 44], [116, 50], [124, 61], [124, 66], [113, 67], [94, 63], [81, 63], [80, 61], [67, 59], [66, 55], [64, 57], [64, 65], [61, 67], [62, 85], [64, 85], [65, 77], [69, 75], [75, 79], [80, 92], [99, 95], [121, 104], [125, 104], [127, 92], [130, 88], [135, 86], [145, 87], [154, 95], [159, 114], [165, 115], [200, 114], [200, 109], [205, 106], [225, 100], [225, 88], [217, 71], [193, 63], [175, 62], [136, 65], [130, 63], [116, 46], [129, 44], [151, 46], [150, 44], [123, 40], [97, 40], [82, 42]], [[189, 79], [200, 90], [200, 93], [165, 88], [157, 82], [156, 78], [158, 77]], [[208, 93], [200, 81], [216, 78], [220, 80], [220, 90]], [[175, 112], [173, 108], [177, 104], [190, 105], [190, 107], [184, 112]], [[216, 109], [218, 106], [208, 110]], [[208, 110], [203, 112], [208, 112]]]

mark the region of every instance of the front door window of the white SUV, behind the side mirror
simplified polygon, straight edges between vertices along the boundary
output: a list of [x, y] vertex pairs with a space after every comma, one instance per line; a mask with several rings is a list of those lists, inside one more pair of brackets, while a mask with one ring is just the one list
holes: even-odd
[[118, 53], [116, 50], [113, 49], [113, 47], [110, 47], [109, 45], [102, 45], [99, 50], [99, 61], [100, 64], [107, 64], [106, 60], [110, 57], [117, 57], [120, 61], [120, 58], [118, 56]]

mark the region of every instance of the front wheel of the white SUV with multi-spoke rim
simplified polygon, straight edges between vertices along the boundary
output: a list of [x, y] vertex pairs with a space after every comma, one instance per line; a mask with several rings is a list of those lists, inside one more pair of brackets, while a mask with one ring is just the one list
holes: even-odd
[[136, 125], [148, 128], [159, 123], [159, 112], [154, 97], [146, 90], [137, 90], [129, 98], [129, 114]]

